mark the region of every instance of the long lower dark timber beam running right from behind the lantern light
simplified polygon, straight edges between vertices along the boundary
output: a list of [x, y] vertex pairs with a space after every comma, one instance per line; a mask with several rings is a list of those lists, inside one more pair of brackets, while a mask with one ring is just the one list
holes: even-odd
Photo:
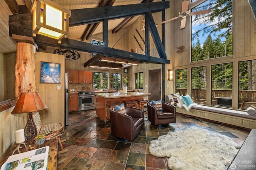
[[103, 56], [111, 56], [111, 57], [117, 57], [117, 58], [128, 59], [128, 60], [136, 60], [136, 61], [147, 62], [147, 63], [150, 62], [150, 63], [158, 63], [158, 64], [170, 64], [170, 60], [167, 60], [167, 59], [132, 53], [132, 52], [105, 47], [101, 45], [96, 45], [92, 43], [71, 40], [68, 38], [63, 38], [61, 44], [58, 43], [58, 40], [55, 40], [53, 38], [47, 38], [41, 35], [37, 35], [34, 38], [34, 40], [37, 44], [41, 44], [41, 45], [73, 49], [73, 50], [83, 51], [88, 53], [96, 53]]

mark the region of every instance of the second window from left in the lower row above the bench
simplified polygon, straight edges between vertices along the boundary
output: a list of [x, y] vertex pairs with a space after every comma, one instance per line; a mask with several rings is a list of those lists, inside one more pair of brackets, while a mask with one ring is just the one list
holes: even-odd
[[206, 105], [206, 66], [191, 68], [191, 97]]

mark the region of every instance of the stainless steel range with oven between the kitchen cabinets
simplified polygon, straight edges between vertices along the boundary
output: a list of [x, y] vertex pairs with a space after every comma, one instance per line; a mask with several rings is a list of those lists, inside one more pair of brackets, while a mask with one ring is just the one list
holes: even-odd
[[78, 92], [78, 110], [95, 109], [95, 95], [94, 91], [80, 91]]

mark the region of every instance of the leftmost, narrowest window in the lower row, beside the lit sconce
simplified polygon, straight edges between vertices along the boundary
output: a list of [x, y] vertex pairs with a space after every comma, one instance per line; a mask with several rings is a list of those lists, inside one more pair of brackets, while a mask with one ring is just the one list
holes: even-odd
[[188, 91], [188, 69], [178, 69], [175, 71], [176, 93], [186, 95]]

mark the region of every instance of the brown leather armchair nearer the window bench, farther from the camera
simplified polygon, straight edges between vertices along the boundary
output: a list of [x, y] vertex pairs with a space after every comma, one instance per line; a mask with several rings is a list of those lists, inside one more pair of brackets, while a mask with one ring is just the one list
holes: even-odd
[[151, 101], [147, 102], [148, 105], [148, 120], [153, 125], [158, 127], [166, 127], [169, 123], [176, 122], [176, 108], [174, 105], [162, 101], [162, 111], [156, 111]]

